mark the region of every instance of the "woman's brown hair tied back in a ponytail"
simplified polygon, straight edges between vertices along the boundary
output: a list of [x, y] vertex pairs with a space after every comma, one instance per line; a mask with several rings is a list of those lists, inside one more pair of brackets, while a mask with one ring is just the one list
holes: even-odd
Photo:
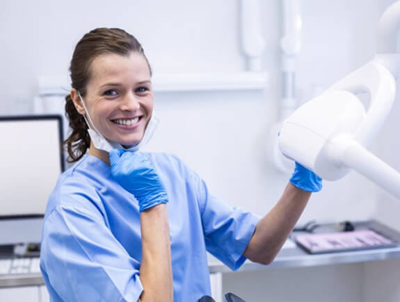
[[[86, 85], [90, 79], [90, 65], [97, 56], [116, 53], [129, 56], [132, 51], [141, 53], [152, 74], [152, 69], [145, 56], [141, 44], [136, 38], [120, 28], [96, 28], [83, 35], [75, 47], [70, 64], [72, 87], [82, 97], [86, 94]], [[63, 142], [68, 151], [67, 162], [76, 162], [86, 153], [90, 146], [88, 126], [72, 102], [71, 95], [65, 97], [65, 115], [70, 121], [72, 133]]]

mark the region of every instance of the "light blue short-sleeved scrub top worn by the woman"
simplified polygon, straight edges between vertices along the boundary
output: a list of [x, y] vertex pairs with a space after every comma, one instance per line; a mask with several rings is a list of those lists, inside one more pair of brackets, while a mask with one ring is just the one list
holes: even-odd
[[[168, 194], [175, 301], [211, 294], [207, 254], [238, 269], [259, 217], [209, 194], [175, 156], [147, 153]], [[40, 269], [51, 301], [137, 301], [143, 286], [138, 202], [111, 168], [84, 156], [49, 197]]]

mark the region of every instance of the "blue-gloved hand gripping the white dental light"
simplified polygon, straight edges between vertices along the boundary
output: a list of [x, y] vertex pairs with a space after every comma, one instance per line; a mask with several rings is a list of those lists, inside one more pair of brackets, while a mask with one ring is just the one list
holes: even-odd
[[319, 192], [322, 189], [322, 178], [298, 162], [289, 181], [292, 185], [308, 192]]

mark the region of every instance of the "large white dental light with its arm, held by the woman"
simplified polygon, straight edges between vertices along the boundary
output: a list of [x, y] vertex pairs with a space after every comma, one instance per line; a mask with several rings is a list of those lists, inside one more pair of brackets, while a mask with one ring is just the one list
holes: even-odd
[[[282, 124], [282, 153], [328, 181], [355, 169], [400, 199], [400, 174], [366, 148], [383, 126], [396, 94], [400, 54], [400, 1], [378, 25], [378, 53], [371, 62], [298, 108]], [[370, 95], [369, 106], [362, 93]]]

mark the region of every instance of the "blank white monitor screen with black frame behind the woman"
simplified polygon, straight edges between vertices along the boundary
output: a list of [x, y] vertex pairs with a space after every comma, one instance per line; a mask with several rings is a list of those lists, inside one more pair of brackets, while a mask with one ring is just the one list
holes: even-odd
[[62, 117], [0, 117], [0, 219], [44, 215], [63, 171]]

